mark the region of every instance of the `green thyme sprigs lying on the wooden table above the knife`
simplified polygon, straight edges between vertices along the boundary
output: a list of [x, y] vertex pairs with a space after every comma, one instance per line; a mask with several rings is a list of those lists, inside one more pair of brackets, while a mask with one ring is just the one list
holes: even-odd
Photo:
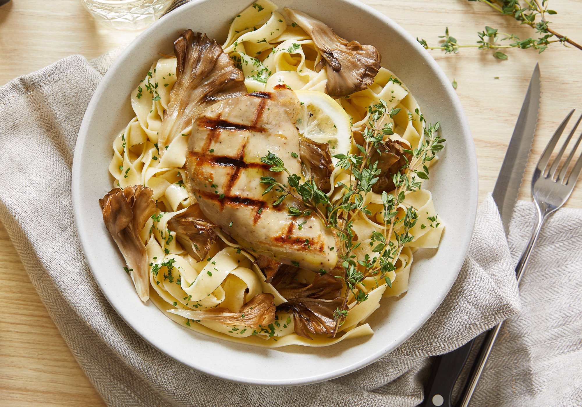
[[[449, 35], [449, 28], [445, 30], [445, 35], [440, 35], [439, 38], [443, 38], [443, 42], [438, 47], [430, 47], [423, 38], [417, 38], [416, 40], [425, 49], [442, 49], [445, 53], [458, 53], [460, 48], [478, 48], [478, 49], [496, 49], [493, 56], [498, 59], [508, 59], [506, 53], [499, 51], [503, 48], [520, 48], [527, 49], [533, 48], [537, 49], [538, 53], [542, 53], [550, 44], [559, 42], [560, 44], [573, 45], [574, 47], [581, 49], [582, 46], [576, 42], [570, 40], [566, 35], [562, 35], [554, 31], [549, 27], [548, 20], [546, 20], [545, 15], [555, 15], [557, 12], [555, 10], [548, 9], [549, 0], [523, 0], [526, 6], [522, 6], [520, 0], [469, 0], [478, 1], [491, 6], [503, 15], [512, 16], [521, 24], [527, 24], [528, 26], [535, 29], [535, 32], [540, 34], [538, 38], [524, 38], [521, 40], [514, 34], [499, 33], [496, 28], [491, 28], [489, 26], [485, 27], [484, 31], [477, 33], [479, 40], [475, 44], [460, 45], [458, 44], [455, 37]], [[537, 17], [540, 17], [539, 21]], [[502, 41], [508, 41], [503, 43]]]

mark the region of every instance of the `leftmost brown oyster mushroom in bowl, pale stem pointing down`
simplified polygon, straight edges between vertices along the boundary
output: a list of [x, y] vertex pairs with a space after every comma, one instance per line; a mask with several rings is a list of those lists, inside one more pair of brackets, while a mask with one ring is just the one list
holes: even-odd
[[141, 301], [150, 298], [150, 279], [145, 245], [140, 231], [155, 213], [154, 191], [143, 185], [115, 188], [99, 199], [105, 226], [127, 263]]

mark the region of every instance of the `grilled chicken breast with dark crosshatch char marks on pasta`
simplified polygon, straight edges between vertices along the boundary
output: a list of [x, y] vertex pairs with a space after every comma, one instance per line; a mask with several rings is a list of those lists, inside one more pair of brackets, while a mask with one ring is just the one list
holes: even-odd
[[289, 216], [288, 205], [303, 209], [293, 197], [274, 207], [277, 192], [262, 196], [262, 176], [287, 182], [285, 172], [269, 172], [270, 166], [261, 163], [268, 151], [289, 172], [301, 174], [298, 113], [299, 100], [282, 85], [210, 106], [190, 135], [186, 185], [204, 215], [254, 255], [329, 271], [338, 262], [333, 231], [315, 217]]

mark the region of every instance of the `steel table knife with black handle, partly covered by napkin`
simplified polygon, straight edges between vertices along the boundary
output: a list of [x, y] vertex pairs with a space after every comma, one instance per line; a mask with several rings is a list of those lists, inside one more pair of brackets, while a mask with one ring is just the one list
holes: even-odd
[[[493, 190], [493, 199], [499, 209], [503, 229], [505, 229], [506, 234], [509, 230], [509, 221], [511, 220], [513, 208], [517, 201], [517, 193], [519, 192], [527, 159], [530, 155], [531, 145], [534, 140], [538, 111], [540, 109], [540, 97], [540, 67], [536, 64], [534, 73], [531, 76], [530, 85], [527, 88], [526, 98], [521, 106], [519, 117], [517, 117], [517, 123], [513, 130], [512, 138], [509, 141], [509, 147], [505, 153], [505, 159], [503, 159], [501, 171], [499, 172]], [[491, 330], [488, 334], [490, 333]], [[455, 349], [455, 351], [435, 358], [432, 363], [430, 377], [425, 386], [425, 397], [422, 404], [424, 407], [452, 407], [453, 387], [469, 357], [473, 342], [474, 339], [462, 347]], [[487, 356], [481, 355], [481, 357], [485, 358]], [[474, 369], [471, 371], [470, 380], [464, 387], [461, 398], [461, 404], [463, 406], [469, 403], [481, 371], [482, 368], [478, 371]]]

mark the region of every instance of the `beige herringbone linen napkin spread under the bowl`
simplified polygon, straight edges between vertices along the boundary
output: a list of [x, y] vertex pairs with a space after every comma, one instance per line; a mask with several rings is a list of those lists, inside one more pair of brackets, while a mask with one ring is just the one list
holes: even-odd
[[490, 196], [445, 301], [408, 341], [358, 372], [300, 387], [240, 385], [152, 348], [101, 294], [73, 221], [74, 145], [113, 59], [87, 62], [73, 55], [0, 88], [0, 220], [108, 405], [414, 406], [423, 400], [430, 356], [508, 317], [471, 405], [573, 405], [582, 399], [582, 210], [561, 209], [548, 220], [518, 294], [513, 266], [533, 227], [533, 205], [518, 202], [506, 240]]

